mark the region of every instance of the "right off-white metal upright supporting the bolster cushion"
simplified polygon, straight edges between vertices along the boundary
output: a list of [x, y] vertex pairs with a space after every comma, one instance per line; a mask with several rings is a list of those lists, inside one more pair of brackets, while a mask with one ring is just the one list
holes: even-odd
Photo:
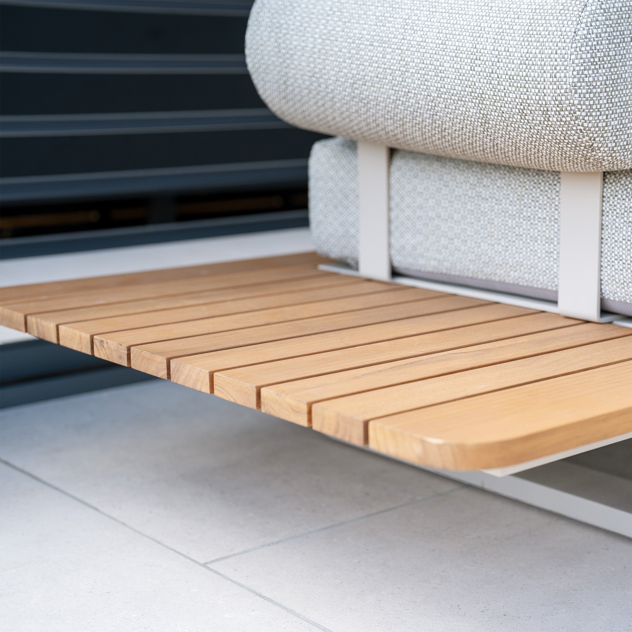
[[604, 173], [560, 173], [557, 307], [601, 320], [601, 216]]

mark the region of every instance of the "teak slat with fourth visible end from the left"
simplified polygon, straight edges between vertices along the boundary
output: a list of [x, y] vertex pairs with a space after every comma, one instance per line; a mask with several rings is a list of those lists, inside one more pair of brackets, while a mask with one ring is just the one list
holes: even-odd
[[[217, 316], [207, 319], [188, 320], [174, 324], [155, 325], [128, 331], [112, 332], [94, 336], [94, 353], [100, 358], [119, 364], [130, 362], [130, 348], [142, 344], [160, 341], [197, 337], [221, 331], [246, 329], [289, 320], [309, 319], [326, 314], [351, 312], [378, 305], [394, 305], [413, 300], [414, 298], [430, 298], [430, 296], [410, 292], [406, 289], [394, 288], [382, 283], [370, 283], [374, 290], [370, 294], [360, 296], [344, 296], [332, 300], [319, 300], [313, 303], [302, 302], [301, 305], [276, 307], [267, 310], [235, 313], [228, 316]], [[427, 292], [427, 290], [423, 290]]]

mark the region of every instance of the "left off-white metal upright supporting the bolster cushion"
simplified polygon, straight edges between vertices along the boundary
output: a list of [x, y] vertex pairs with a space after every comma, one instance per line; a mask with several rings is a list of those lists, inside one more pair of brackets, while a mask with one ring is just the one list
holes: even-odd
[[358, 270], [379, 281], [391, 279], [390, 164], [389, 147], [358, 142]]

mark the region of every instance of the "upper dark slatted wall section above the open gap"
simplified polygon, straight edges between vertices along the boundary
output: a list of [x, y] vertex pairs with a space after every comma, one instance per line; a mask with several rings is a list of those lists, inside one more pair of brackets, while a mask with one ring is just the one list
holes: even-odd
[[259, 99], [250, 4], [0, 2], [3, 204], [305, 186], [320, 136]]

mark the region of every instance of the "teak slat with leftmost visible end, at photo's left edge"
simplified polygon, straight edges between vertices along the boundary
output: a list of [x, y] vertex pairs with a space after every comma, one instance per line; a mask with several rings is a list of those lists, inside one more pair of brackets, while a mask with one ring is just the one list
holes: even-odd
[[195, 290], [254, 285], [274, 281], [275, 279], [308, 277], [317, 274], [322, 274], [322, 272], [316, 270], [313, 265], [296, 265], [269, 270], [251, 270], [250, 272], [235, 272], [212, 277], [184, 279], [183, 281], [151, 283], [107, 291], [98, 290], [71, 296], [61, 296], [59, 298], [46, 298], [28, 303], [11, 303], [0, 307], [0, 324], [19, 329], [20, 331], [26, 331], [27, 316], [33, 313], [90, 307], [91, 305], [106, 305], [107, 303], [155, 298], [157, 296], [178, 295]]

